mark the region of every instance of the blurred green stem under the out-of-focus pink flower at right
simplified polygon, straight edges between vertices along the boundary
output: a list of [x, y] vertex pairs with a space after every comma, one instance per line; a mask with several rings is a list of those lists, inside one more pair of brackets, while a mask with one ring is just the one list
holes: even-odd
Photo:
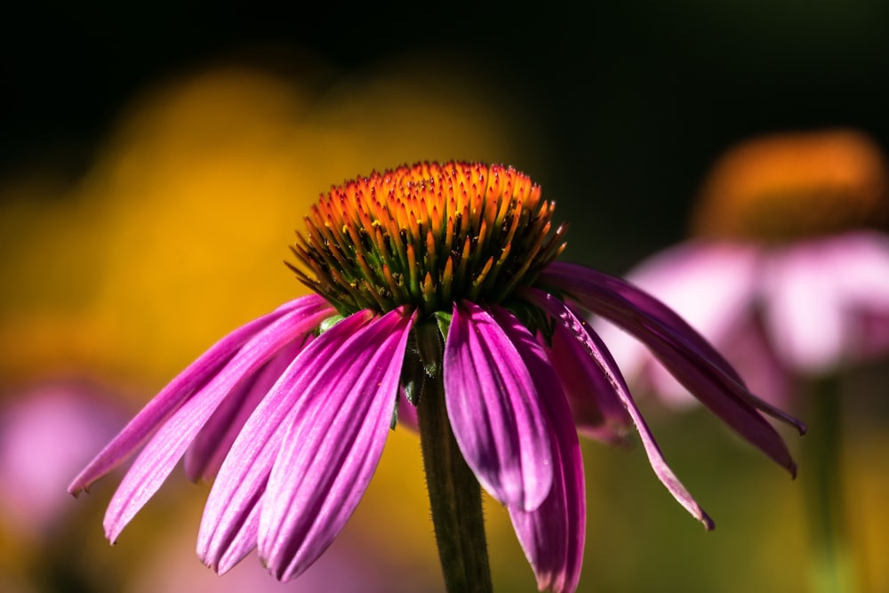
[[845, 529], [840, 381], [836, 375], [813, 381], [806, 398], [811, 433], [806, 439], [806, 508], [811, 529], [811, 573], [815, 593], [856, 591], [852, 557]]

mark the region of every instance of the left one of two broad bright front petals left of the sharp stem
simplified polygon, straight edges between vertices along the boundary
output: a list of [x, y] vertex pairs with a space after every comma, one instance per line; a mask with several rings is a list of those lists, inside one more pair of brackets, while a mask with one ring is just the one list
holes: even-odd
[[217, 573], [225, 573], [256, 546], [260, 501], [297, 402], [309, 385], [324, 383], [326, 361], [371, 319], [370, 311], [356, 313], [312, 341], [268, 389], [238, 433], [213, 482], [197, 536], [198, 557]]

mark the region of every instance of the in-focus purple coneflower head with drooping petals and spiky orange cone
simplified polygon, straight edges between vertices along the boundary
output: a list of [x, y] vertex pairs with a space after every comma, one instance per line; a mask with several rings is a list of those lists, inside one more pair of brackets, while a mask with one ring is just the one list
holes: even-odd
[[635, 426], [657, 477], [712, 527], [587, 312], [644, 341], [704, 405], [794, 473], [763, 414], [802, 429], [797, 421], [751, 395], [659, 301], [557, 262], [564, 229], [554, 228], [554, 208], [528, 177], [499, 165], [416, 164], [331, 188], [293, 247], [292, 269], [316, 294], [219, 341], [69, 491], [144, 445], [108, 507], [115, 541], [184, 456], [188, 477], [215, 477], [198, 535], [204, 563], [224, 573], [256, 548], [270, 573], [292, 579], [356, 509], [398, 408], [419, 414], [423, 437], [423, 405], [437, 392], [422, 383], [436, 380], [461, 456], [509, 509], [538, 586], [573, 591], [586, 521], [577, 429], [610, 441]]

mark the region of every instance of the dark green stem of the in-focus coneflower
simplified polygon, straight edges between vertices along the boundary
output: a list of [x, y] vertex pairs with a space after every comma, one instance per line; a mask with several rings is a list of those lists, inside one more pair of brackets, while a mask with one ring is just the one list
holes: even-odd
[[454, 440], [440, 371], [424, 377], [417, 415], [445, 587], [450, 593], [491, 593], [482, 493]]

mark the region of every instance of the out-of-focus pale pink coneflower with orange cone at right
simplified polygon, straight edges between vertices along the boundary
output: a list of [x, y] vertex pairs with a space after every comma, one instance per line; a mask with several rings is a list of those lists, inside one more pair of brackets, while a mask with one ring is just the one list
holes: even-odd
[[[628, 278], [676, 310], [775, 405], [801, 379], [889, 354], [889, 176], [860, 132], [774, 134], [704, 183], [694, 237]], [[621, 368], [691, 401], [643, 344], [597, 326]]]

